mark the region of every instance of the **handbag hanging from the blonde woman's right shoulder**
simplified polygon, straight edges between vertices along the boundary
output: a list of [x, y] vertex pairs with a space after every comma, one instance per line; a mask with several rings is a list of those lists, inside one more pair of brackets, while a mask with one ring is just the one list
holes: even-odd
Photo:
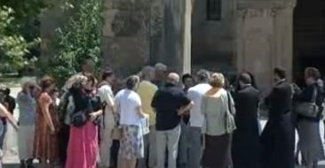
[[226, 128], [226, 134], [231, 134], [234, 132], [234, 130], [237, 128], [236, 124], [234, 122], [234, 115], [232, 112], [232, 103], [231, 103], [231, 95], [229, 92], [226, 94], [227, 96], [227, 102], [228, 102], [228, 108], [225, 112], [225, 128]]

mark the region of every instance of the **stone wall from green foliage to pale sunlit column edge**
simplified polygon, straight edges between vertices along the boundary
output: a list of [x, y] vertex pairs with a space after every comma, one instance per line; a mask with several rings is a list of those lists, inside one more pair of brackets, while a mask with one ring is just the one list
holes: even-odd
[[163, 62], [189, 73], [191, 0], [106, 0], [104, 55], [123, 76]]

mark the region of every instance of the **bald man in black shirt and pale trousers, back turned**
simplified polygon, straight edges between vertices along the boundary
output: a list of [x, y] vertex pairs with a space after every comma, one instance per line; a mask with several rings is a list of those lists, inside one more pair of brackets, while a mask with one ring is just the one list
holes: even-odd
[[166, 148], [168, 168], [176, 168], [181, 116], [189, 111], [193, 103], [185, 92], [178, 88], [179, 76], [170, 73], [166, 84], [154, 96], [151, 106], [156, 111], [157, 168], [164, 168]]

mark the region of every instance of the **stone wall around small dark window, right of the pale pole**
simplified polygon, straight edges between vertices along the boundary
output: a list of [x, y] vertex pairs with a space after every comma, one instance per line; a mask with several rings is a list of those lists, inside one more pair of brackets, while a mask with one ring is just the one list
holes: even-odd
[[236, 65], [235, 0], [221, 1], [221, 19], [207, 19], [207, 1], [194, 2], [192, 20], [192, 59], [194, 67], [214, 71], [234, 71]]

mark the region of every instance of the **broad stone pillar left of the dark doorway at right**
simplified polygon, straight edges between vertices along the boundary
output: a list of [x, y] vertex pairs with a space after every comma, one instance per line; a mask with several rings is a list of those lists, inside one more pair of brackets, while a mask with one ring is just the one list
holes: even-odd
[[255, 74], [258, 87], [269, 88], [273, 74], [273, 10], [241, 9], [238, 12], [238, 70]]

